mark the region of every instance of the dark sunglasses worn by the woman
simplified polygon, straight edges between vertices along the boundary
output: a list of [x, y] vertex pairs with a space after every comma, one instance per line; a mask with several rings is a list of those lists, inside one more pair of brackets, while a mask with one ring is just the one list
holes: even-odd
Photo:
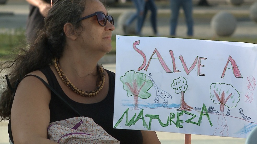
[[[110, 22], [112, 25], [114, 25], [114, 20], [112, 16], [106, 16], [103, 12], [95, 12], [94, 14], [85, 16], [85, 17], [81, 17], [78, 19], [77, 22], [82, 21], [83, 19], [92, 17], [92, 16], [96, 16], [97, 17], [97, 21], [101, 26], [106, 26], [107, 21]], [[107, 19], [107, 21], [106, 21]]]

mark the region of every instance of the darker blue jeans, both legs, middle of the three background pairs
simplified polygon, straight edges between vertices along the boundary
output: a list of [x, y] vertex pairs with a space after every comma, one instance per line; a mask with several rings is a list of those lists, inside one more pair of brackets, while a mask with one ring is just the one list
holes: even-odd
[[142, 25], [139, 26], [139, 32], [141, 32], [148, 10], [151, 11], [151, 25], [152, 25], [154, 34], [157, 34], [157, 25], [156, 25], [157, 7], [154, 3], [154, 0], [148, 0], [147, 2], [145, 2], [143, 22], [142, 22]]

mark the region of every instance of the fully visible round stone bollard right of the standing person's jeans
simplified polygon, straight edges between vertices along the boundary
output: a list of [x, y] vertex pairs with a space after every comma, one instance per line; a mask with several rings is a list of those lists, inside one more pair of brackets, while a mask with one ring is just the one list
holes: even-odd
[[225, 11], [218, 12], [211, 20], [211, 28], [218, 36], [230, 36], [236, 29], [236, 18]]

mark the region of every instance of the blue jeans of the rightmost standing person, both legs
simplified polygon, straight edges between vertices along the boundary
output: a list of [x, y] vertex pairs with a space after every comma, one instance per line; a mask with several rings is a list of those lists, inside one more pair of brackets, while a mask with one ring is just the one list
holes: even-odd
[[171, 4], [171, 35], [176, 34], [176, 27], [178, 23], [178, 16], [179, 16], [179, 9], [180, 6], [182, 6], [186, 18], [186, 25], [188, 28], [187, 35], [192, 36], [193, 35], [193, 17], [192, 17], [192, 9], [193, 4], [192, 0], [170, 0]]

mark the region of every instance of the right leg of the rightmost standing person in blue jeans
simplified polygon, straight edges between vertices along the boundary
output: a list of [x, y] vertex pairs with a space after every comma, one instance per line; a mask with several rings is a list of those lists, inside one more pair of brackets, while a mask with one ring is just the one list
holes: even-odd
[[192, 36], [193, 35], [193, 16], [192, 16], [192, 9], [193, 9], [193, 4], [192, 0], [181, 0], [182, 1], [182, 6], [184, 9], [185, 13], [185, 18], [186, 18], [186, 25], [188, 27], [187, 35]]

